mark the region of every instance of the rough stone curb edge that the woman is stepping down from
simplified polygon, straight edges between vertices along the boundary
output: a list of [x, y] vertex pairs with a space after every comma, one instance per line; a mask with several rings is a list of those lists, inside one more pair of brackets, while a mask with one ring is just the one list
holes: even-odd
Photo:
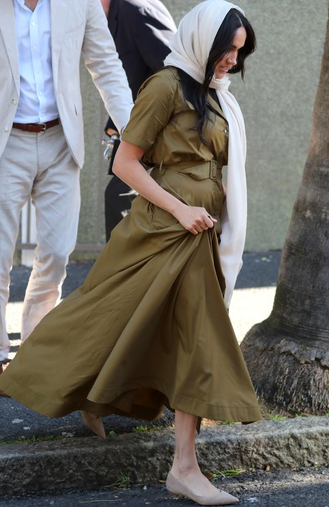
[[[209, 426], [197, 437], [201, 468], [264, 468], [328, 465], [329, 417], [262, 421], [247, 426]], [[128, 433], [0, 446], [1, 496], [111, 485], [118, 472], [134, 484], [165, 480], [174, 431]]]

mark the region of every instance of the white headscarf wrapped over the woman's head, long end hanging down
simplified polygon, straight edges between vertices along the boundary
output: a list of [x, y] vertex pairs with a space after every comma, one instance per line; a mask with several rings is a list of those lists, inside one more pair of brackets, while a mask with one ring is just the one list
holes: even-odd
[[[230, 9], [243, 11], [224, 0], [207, 0], [198, 4], [181, 20], [174, 35], [165, 65], [184, 70], [203, 83], [205, 67], [217, 31]], [[224, 301], [229, 307], [236, 277], [242, 266], [246, 230], [245, 130], [239, 104], [228, 91], [229, 77], [211, 81], [229, 126], [227, 197], [221, 214], [220, 259], [226, 289]]]

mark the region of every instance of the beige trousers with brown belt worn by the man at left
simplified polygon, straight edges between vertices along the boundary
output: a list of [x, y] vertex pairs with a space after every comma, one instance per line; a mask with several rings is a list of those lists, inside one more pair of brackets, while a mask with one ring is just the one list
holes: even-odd
[[0, 361], [10, 349], [5, 318], [20, 211], [31, 196], [37, 245], [23, 304], [24, 341], [61, 296], [65, 267], [76, 241], [79, 174], [61, 125], [44, 134], [12, 129], [0, 157]]

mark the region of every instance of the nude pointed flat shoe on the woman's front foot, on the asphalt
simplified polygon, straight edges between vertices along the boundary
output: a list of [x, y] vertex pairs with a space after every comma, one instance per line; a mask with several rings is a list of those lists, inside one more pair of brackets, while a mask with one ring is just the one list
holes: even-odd
[[169, 472], [167, 476], [166, 486], [170, 493], [187, 496], [187, 498], [190, 498], [199, 505], [230, 505], [231, 503], [237, 503], [239, 501], [235, 496], [220, 489], [217, 490], [217, 493], [210, 496], [195, 495], [190, 488], [185, 486], [179, 479], [176, 479], [171, 472]]

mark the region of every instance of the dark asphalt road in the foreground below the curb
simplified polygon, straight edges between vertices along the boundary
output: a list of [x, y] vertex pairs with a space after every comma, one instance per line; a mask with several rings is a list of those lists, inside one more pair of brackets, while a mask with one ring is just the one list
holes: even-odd
[[[214, 484], [238, 496], [240, 507], [329, 507], [329, 469], [301, 468], [245, 472], [236, 478], [216, 479]], [[1, 507], [192, 507], [183, 497], [171, 496], [165, 486], [139, 485], [129, 489], [70, 491], [57, 495], [1, 500]]]

